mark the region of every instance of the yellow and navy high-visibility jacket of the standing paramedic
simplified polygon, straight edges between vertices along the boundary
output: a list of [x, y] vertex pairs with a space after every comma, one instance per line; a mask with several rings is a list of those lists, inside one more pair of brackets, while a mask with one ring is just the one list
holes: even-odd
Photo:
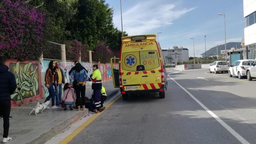
[[90, 77], [91, 81], [93, 81], [92, 89], [93, 90], [101, 90], [102, 82], [101, 82], [101, 74], [99, 69], [93, 71], [93, 75]]

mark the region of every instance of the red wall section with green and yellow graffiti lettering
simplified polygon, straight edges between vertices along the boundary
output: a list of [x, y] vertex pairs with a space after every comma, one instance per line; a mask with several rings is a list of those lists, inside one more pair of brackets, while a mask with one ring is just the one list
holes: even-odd
[[38, 61], [8, 60], [9, 71], [15, 76], [16, 83], [21, 88], [11, 95], [11, 105], [19, 106], [42, 98], [41, 67]]

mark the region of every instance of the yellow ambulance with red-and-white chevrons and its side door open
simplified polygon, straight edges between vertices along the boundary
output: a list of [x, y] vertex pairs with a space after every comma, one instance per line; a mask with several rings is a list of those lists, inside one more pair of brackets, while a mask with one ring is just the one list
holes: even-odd
[[[123, 100], [130, 94], [157, 93], [165, 97], [166, 70], [156, 35], [122, 37], [119, 58], [111, 58], [111, 72], [115, 88], [120, 88]], [[119, 63], [119, 67], [115, 67]]]

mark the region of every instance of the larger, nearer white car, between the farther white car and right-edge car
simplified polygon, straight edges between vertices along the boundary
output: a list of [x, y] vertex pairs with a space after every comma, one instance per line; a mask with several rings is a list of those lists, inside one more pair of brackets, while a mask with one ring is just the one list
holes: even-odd
[[255, 63], [255, 60], [238, 60], [230, 65], [228, 70], [229, 77], [237, 76], [239, 79], [242, 79], [243, 76], [246, 76], [247, 69], [251, 64]]

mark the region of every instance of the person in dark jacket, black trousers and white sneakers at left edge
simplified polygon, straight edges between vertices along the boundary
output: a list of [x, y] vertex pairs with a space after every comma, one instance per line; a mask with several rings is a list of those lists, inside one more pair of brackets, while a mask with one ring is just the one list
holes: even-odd
[[11, 95], [14, 93], [17, 84], [14, 74], [9, 72], [6, 66], [7, 58], [0, 56], [0, 115], [3, 116], [3, 143], [10, 141], [9, 132], [9, 116], [11, 111]]

